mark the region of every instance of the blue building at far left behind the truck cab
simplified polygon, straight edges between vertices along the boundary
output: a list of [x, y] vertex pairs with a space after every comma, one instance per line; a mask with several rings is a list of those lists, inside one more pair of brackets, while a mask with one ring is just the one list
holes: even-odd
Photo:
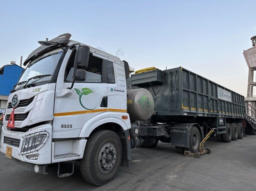
[[0, 114], [6, 108], [10, 90], [18, 82], [22, 70], [23, 68], [16, 64], [5, 65], [0, 68]]

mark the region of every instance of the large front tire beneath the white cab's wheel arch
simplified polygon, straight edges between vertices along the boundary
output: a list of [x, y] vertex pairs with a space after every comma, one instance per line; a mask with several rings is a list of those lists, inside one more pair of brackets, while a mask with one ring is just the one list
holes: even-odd
[[84, 179], [97, 186], [109, 183], [120, 168], [122, 153], [122, 143], [115, 132], [101, 130], [92, 134], [80, 161]]

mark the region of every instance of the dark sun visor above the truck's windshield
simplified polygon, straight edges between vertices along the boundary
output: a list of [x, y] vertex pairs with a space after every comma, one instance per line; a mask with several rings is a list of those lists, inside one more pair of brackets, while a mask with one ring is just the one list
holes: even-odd
[[[61, 44], [61, 46], [66, 46], [68, 44], [68, 41], [71, 37], [71, 34], [69, 33], [64, 33], [64, 34], [61, 34], [49, 41], [52, 41], [52, 42], [58, 42]], [[53, 45], [53, 46], [43, 46], [41, 45], [40, 47], [38, 47], [37, 49], [35, 49], [33, 52], [31, 52], [27, 59], [24, 61], [23, 65], [26, 66], [31, 60], [33, 60], [35, 57], [37, 57], [38, 55], [40, 54], [43, 54], [44, 52], [52, 49], [52, 48], [55, 48], [55, 47], [58, 47], [58, 44], [56, 45]]]

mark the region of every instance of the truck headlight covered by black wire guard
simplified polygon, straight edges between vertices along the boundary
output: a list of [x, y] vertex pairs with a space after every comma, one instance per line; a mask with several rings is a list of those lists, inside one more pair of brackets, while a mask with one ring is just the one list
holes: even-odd
[[37, 132], [24, 136], [20, 154], [27, 154], [39, 150], [49, 137], [48, 132]]

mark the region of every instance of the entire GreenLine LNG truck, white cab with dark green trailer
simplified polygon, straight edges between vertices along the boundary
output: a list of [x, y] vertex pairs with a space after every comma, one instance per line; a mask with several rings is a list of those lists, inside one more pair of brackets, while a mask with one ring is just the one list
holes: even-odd
[[58, 163], [66, 177], [76, 160], [100, 186], [129, 165], [134, 147], [161, 141], [194, 153], [211, 128], [219, 141], [243, 137], [242, 95], [182, 67], [129, 77], [126, 61], [70, 37], [39, 41], [11, 90], [0, 151], [13, 162], [42, 174]]

